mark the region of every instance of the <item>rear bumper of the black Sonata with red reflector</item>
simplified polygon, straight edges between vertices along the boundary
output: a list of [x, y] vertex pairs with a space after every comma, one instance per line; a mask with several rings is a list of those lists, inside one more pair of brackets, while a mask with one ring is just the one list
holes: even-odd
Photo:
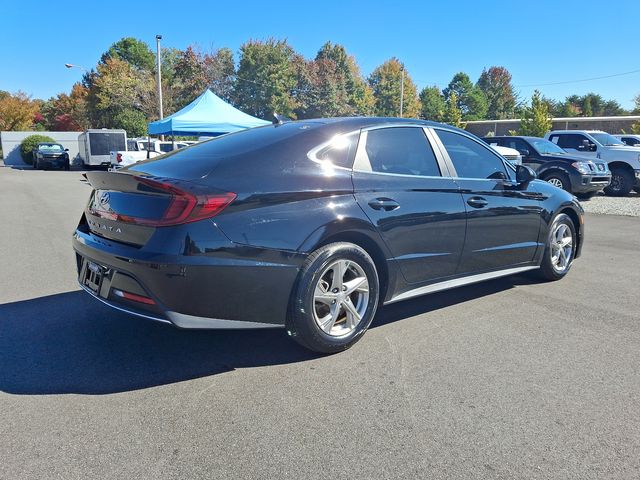
[[[199, 254], [150, 252], [79, 227], [73, 235], [73, 247], [80, 286], [113, 308], [180, 328], [283, 326], [304, 257], [235, 245], [208, 223], [206, 228], [215, 229], [220, 242], [212, 251], [203, 249], [206, 253]], [[193, 229], [193, 225], [180, 228]], [[187, 235], [197, 238], [197, 231]], [[100, 266], [103, 272], [97, 291], [85, 284], [87, 262]], [[149, 301], [123, 298], [122, 292]]]

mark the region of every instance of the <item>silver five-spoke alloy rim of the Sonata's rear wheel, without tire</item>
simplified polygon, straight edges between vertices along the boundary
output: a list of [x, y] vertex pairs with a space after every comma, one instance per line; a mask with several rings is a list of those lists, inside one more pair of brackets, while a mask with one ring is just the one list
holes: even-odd
[[329, 264], [318, 278], [313, 294], [313, 318], [333, 337], [351, 333], [362, 321], [369, 305], [369, 279], [362, 267], [350, 260]]

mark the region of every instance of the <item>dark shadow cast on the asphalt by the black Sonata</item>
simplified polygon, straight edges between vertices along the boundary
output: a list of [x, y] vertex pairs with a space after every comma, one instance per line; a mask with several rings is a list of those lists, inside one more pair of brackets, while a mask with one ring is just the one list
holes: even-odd
[[[512, 288], [519, 277], [381, 308], [371, 328]], [[101, 395], [317, 358], [283, 329], [180, 330], [81, 291], [0, 305], [0, 391]]]

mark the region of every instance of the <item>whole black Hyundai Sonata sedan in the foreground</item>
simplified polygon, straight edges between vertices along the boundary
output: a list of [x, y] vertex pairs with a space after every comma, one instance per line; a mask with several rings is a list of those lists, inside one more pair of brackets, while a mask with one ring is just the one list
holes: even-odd
[[462, 130], [342, 118], [229, 134], [117, 172], [73, 238], [81, 287], [183, 328], [344, 350], [388, 304], [580, 255], [583, 210]]

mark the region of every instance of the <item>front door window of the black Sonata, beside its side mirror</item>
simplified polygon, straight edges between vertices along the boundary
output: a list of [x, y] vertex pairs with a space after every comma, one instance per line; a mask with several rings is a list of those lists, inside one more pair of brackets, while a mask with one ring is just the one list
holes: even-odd
[[461, 178], [507, 179], [502, 159], [469, 137], [435, 130]]

